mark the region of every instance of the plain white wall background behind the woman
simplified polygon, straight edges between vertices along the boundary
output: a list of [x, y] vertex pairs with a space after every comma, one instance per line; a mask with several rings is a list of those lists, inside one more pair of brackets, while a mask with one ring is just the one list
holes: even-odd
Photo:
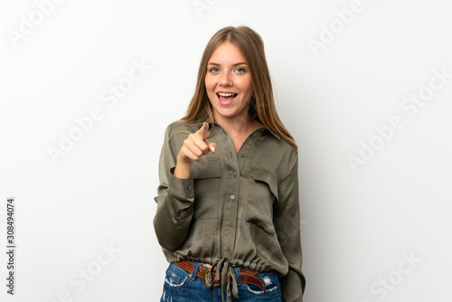
[[[450, 301], [452, 1], [363, 0], [348, 24], [337, 13], [348, 0], [67, 0], [42, 14], [44, 2], [0, 4], [0, 250], [9, 196], [17, 245], [14, 297], [0, 254], [0, 300], [159, 300], [165, 127], [184, 115], [212, 34], [246, 24], [299, 146], [305, 300]], [[134, 62], [152, 68], [105, 102]], [[431, 90], [435, 70], [449, 78]], [[420, 91], [433, 95], [405, 102]], [[49, 147], [95, 108], [101, 118], [53, 163]]]

